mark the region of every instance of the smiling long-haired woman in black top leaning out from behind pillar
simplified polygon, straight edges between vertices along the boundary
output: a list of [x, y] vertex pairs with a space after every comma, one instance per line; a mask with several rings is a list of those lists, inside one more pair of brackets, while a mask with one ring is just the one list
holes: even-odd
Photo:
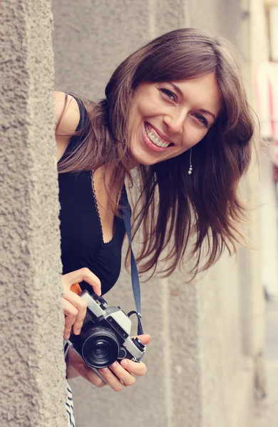
[[[237, 189], [249, 166], [254, 123], [237, 57], [225, 39], [192, 28], [160, 36], [118, 66], [104, 100], [56, 93], [56, 119], [65, 338], [71, 327], [80, 333], [86, 312], [71, 285], [100, 295], [120, 273], [120, 194], [125, 179], [133, 181], [132, 169], [141, 272], [153, 274], [163, 260], [159, 273], [173, 273], [189, 238], [194, 274], [225, 248], [235, 251], [244, 214]], [[141, 340], [148, 344], [150, 337]], [[68, 376], [77, 374], [105, 385], [70, 353]], [[114, 390], [143, 374], [145, 365], [130, 361], [102, 371]]]

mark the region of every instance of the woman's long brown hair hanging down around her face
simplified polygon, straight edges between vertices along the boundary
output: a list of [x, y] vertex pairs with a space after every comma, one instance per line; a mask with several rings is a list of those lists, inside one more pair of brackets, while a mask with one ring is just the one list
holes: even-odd
[[133, 235], [143, 231], [138, 255], [141, 272], [154, 272], [165, 253], [166, 266], [160, 274], [173, 273], [190, 236], [195, 238], [193, 273], [209, 268], [225, 248], [236, 251], [237, 225], [244, 217], [237, 189], [251, 160], [254, 120], [230, 43], [205, 31], [182, 28], [155, 38], [130, 55], [110, 78], [104, 100], [83, 100], [90, 118], [85, 132], [80, 131], [85, 137], [59, 165], [59, 172], [112, 170], [115, 179], [106, 183], [106, 189], [117, 212], [123, 181], [126, 176], [132, 180], [127, 128], [136, 88], [143, 82], [176, 81], [207, 73], [216, 75], [223, 107], [207, 135], [192, 147], [194, 172], [187, 174], [189, 152], [138, 167]]

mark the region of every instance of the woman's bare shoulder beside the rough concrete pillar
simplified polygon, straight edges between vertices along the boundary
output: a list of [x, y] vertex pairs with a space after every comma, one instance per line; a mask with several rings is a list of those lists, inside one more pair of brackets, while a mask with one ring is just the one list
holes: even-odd
[[80, 119], [78, 103], [74, 97], [63, 92], [54, 92], [54, 115], [58, 161], [68, 147], [71, 134], [76, 130]]

